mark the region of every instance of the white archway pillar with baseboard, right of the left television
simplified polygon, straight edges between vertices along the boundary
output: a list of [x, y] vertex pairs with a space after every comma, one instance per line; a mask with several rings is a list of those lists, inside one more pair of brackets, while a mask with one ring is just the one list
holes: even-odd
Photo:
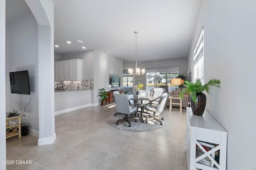
[[54, 123], [54, 4], [25, 0], [38, 23], [38, 145], [53, 143]]

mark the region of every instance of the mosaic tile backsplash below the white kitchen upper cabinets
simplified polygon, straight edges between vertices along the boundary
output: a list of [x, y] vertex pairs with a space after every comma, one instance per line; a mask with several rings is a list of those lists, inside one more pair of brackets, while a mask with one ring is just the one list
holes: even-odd
[[94, 79], [83, 79], [82, 81], [54, 81], [54, 89], [58, 84], [63, 84], [63, 89], [91, 90], [94, 86]]

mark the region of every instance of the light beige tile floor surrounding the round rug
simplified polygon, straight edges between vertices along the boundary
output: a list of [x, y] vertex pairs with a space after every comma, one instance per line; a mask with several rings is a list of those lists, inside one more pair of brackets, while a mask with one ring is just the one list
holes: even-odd
[[187, 170], [186, 114], [165, 109], [166, 126], [146, 132], [111, 127], [114, 105], [86, 107], [55, 116], [56, 140], [37, 146], [28, 135], [6, 139], [6, 160], [31, 160], [7, 170]]

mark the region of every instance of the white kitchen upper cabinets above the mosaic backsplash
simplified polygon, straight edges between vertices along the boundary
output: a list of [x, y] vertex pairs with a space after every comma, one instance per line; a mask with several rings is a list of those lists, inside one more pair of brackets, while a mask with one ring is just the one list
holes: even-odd
[[69, 59], [55, 62], [56, 81], [82, 81], [82, 59]]

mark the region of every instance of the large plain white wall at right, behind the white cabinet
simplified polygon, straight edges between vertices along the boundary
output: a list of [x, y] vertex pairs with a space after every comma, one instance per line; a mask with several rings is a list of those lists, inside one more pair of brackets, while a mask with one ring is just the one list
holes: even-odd
[[188, 58], [193, 70], [192, 49], [204, 26], [204, 81], [221, 81], [221, 89], [210, 89], [206, 109], [228, 131], [228, 170], [256, 169], [255, 7], [254, 0], [202, 1]]

